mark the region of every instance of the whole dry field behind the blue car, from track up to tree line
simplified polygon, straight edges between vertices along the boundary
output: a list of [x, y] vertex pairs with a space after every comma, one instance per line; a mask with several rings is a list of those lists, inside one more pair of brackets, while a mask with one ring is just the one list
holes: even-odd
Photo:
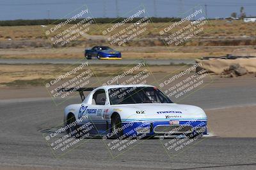
[[[170, 23], [150, 23], [147, 31], [138, 41], [113, 46], [120, 50], [124, 59], [196, 59], [204, 56], [221, 56], [233, 53], [239, 48], [253, 49], [256, 44], [256, 23], [244, 23], [234, 20], [211, 20], [204, 25], [204, 31], [184, 46], [165, 46], [159, 39], [159, 31]], [[102, 30], [110, 24], [92, 24], [88, 34], [70, 42], [65, 48], [51, 48], [45, 36], [46, 28], [40, 25], [0, 27], [0, 58], [2, 59], [82, 59], [84, 48], [94, 45], [109, 45], [106, 37], [101, 36]], [[66, 25], [63, 29], [70, 27]], [[118, 30], [124, 29], [122, 25]], [[181, 26], [173, 29], [177, 31]], [[116, 31], [118, 31], [116, 30]], [[115, 31], [115, 32], [116, 32]], [[8, 40], [8, 39], [12, 40]], [[110, 46], [110, 45], [109, 45]], [[246, 47], [246, 48], [244, 48]]]

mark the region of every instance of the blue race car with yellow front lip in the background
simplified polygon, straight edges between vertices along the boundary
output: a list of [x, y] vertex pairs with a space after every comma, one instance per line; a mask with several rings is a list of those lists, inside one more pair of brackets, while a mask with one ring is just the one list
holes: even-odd
[[86, 59], [101, 59], [101, 60], [120, 60], [121, 52], [113, 50], [108, 46], [94, 46], [90, 50], [84, 51]]

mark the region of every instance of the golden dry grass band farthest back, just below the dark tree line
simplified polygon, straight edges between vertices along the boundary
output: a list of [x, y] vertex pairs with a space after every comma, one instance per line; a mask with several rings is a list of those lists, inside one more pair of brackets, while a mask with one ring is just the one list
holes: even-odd
[[[159, 31], [163, 29], [164, 26], [170, 25], [170, 23], [151, 23], [147, 27], [147, 31], [143, 36], [158, 36]], [[227, 23], [225, 20], [211, 20], [207, 25], [204, 26], [204, 32], [200, 36], [216, 37], [216, 36], [226, 36], [226, 37], [236, 37], [236, 36], [256, 36], [255, 31], [256, 23], [244, 23], [242, 20], [233, 20], [232, 23]], [[109, 27], [110, 24], [92, 24], [90, 26], [90, 35], [101, 35], [102, 31]], [[0, 29], [0, 40], [12, 38], [12, 39], [47, 39], [44, 32], [49, 27], [53, 25], [48, 25], [44, 28], [40, 25], [29, 25], [29, 26], [12, 26], [12, 27], [1, 27]], [[63, 29], [70, 27], [66, 25]], [[127, 25], [122, 25], [118, 29], [124, 29]], [[173, 29], [177, 31], [182, 26]], [[83, 38], [81, 38], [83, 39]]]

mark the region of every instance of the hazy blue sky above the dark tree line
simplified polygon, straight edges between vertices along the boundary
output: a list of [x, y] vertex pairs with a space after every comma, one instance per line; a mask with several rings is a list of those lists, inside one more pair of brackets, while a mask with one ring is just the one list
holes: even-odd
[[138, 6], [145, 8], [148, 17], [179, 17], [198, 6], [204, 11], [206, 7], [209, 18], [239, 14], [241, 6], [247, 16], [256, 16], [255, 0], [0, 0], [0, 20], [68, 18], [82, 6], [95, 18], [129, 17]]

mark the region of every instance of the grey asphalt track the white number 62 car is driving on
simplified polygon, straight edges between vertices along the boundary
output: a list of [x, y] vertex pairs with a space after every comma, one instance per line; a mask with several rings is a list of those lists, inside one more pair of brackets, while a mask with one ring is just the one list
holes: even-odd
[[[204, 109], [253, 104], [256, 87], [240, 91], [229, 87], [222, 91], [205, 88], [182, 103]], [[219, 101], [220, 98], [223, 100]], [[51, 99], [0, 101], [0, 169], [256, 169], [255, 138], [201, 138], [179, 154], [167, 154], [158, 138], [141, 139], [141, 143], [115, 159], [102, 139], [90, 139], [56, 158], [42, 132], [61, 124], [63, 108], [77, 102], [78, 97], [60, 106]]]

